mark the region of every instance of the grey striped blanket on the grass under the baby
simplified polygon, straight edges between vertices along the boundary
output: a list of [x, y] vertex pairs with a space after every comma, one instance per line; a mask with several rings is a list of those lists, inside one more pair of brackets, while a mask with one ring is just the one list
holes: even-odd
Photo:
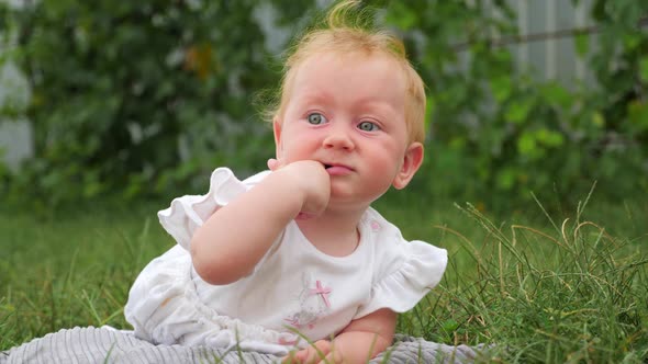
[[[370, 363], [471, 363], [480, 349], [396, 334], [394, 344]], [[256, 352], [154, 345], [135, 338], [131, 331], [110, 327], [65, 329], [0, 352], [0, 364], [278, 362], [278, 356]]]

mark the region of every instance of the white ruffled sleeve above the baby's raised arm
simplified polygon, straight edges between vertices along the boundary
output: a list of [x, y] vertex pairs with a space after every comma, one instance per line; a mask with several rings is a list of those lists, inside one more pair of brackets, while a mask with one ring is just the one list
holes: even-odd
[[269, 171], [239, 181], [228, 168], [217, 168], [210, 178], [205, 195], [186, 195], [171, 201], [169, 208], [157, 213], [164, 229], [182, 248], [189, 250], [193, 232], [219, 208], [257, 184]]

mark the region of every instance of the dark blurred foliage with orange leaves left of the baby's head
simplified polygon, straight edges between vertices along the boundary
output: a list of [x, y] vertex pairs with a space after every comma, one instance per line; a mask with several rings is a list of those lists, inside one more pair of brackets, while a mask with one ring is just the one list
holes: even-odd
[[271, 138], [250, 95], [276, 77], [255, 4], [68, 0], [12, 11], [36, 147], [14, 193], [49, 205], [110, 190], [142, 196], [186, 189], [215, 164], [256, 167]]

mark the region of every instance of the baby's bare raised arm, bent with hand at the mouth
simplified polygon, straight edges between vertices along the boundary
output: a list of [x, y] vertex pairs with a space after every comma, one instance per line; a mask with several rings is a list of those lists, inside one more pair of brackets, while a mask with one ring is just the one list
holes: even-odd
[[191, 239], [195, 272], [228, 284], [249, 274], [281, 230], [300, 212], [319, 215], [328, 204], [324, 167], [304, 160], [279, 168], [215, 212]]

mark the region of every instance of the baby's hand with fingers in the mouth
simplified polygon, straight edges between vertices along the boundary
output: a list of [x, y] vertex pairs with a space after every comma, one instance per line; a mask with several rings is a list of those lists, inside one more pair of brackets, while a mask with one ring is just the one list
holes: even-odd
[[290, 179], [290, 185], [297, 187], [295, 192], [301, 192], [303, 201], [298, 218], [314, 217], [324, 212], [331, 197], [331, 177], [322, 163], [300, 160], [283, 166], [279, 160], [269, 159], [268, 168], [284, 173]]

